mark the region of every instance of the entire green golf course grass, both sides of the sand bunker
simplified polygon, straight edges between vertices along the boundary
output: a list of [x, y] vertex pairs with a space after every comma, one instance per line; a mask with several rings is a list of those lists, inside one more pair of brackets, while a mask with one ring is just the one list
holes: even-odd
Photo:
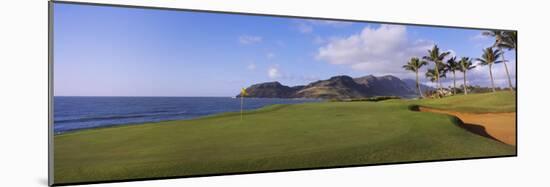
[[273, 105], [242, 121], [226, 113], [66, 133], [54, 138], [55, 183], [515, 155], [514, 146], [470, 133], [454, 117], [409, 110], [513, 111], [511, 98]]

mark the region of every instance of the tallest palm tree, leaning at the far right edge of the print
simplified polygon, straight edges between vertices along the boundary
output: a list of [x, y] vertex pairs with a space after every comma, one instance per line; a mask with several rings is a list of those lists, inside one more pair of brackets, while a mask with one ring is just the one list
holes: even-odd
[[[515, 33], [515, 32], [512, 32]], [[493, 44], [493, 47], [498, 48], [499, 51], [502, 52], [502, 48], [515, 48], [515, 34], [512, 34], [507, 31], [500, 31], [500, 30], [491, 30], [491, 31], [485, 31], [483, 32], [483, 35], [486, 36], [492, 36], [495, 37], [495, 43]], [[510, 87], [510, 91], [514, 91], [514, 87], [512, 86], [512, 79], [510, 78], [510, 73], [508, 72], [508, 65], [506, 65], [506, 60], [504, 59], [504, 52], [502, 52], [502, 55], [500, 55], [502, 58], [502, 62], [504, 64], [504, 69], [506, 70], [506, 76], [508, 76], [508, 86]]]

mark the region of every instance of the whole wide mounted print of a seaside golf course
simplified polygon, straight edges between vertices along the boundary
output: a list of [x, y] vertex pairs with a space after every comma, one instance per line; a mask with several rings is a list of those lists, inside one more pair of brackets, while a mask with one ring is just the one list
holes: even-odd
[[517, 31], [49, 8], [53, 185], [517, 154]]

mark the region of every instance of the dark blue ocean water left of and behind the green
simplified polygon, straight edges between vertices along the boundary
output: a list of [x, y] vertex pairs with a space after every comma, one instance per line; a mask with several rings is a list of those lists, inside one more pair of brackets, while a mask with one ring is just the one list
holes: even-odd
[[[272, 104], [318, 102], [316, 99], [245, 98], [244, 110]], [[240, 111], [231, 97], [54, 97], [54, 132], [193, 119]]]

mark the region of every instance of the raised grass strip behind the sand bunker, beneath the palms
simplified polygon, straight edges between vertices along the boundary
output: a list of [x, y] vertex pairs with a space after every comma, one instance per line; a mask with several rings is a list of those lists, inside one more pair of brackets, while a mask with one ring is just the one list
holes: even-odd
[[499, 91], [469, 95], [459, 94], [441, 99], [422, 99], [416, 103], [421, 106], [458, 112], [515, 112], [516, 93]]

